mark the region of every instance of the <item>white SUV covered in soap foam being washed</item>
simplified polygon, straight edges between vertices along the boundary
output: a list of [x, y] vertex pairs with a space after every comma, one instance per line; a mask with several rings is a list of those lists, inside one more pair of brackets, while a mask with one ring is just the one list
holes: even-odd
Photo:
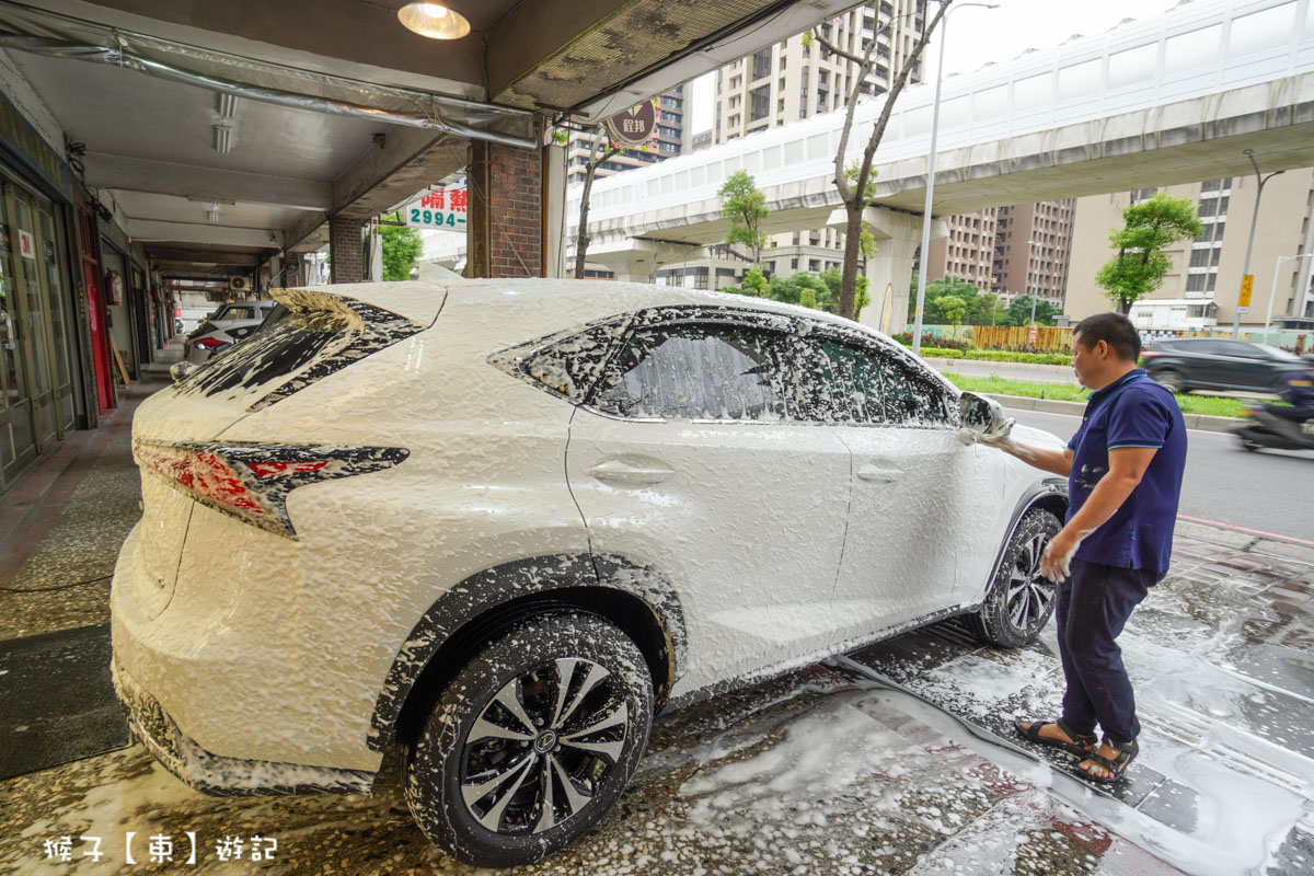
[[607, 812], [664, 705], [1050, 615], [1066, 483], [964, 444], [958, 391], [853, 322], [589, 281], [276, 294], [133, 424], [114, 680], [196, 788], [369, 791], [396, 749], [434, 842], [520, 864]]

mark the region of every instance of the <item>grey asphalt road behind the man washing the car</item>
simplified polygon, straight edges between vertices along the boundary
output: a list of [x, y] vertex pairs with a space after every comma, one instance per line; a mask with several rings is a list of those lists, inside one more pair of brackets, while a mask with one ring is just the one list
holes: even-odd
[[[1072, 437], [1080, 418], [1010, 410], [1024, 426]], [[1190, 431], [1180, 514], [1314, 541], [1314, 453], [1247, 453], [1222, 432]]]

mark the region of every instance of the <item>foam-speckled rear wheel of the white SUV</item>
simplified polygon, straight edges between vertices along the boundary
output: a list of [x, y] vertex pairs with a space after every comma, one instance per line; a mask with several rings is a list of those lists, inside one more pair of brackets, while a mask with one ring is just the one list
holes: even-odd
[[539, 615], [460, 667], [403, 742], [406, 802], [424, 835], [460, 862], [541, 860], [619, 800], [652, 713], [648, 666], [620, 629], [586, 613]]

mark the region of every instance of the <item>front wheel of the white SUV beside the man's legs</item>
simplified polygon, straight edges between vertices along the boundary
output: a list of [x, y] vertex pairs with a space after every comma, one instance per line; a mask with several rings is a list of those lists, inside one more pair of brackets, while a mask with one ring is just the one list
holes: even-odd
[[1043, 508], [1031, 508], [1004, 546], [986, 600], [968, 626], [997, 647], [1021, 647], [1039, 634], [1054, 612], [1053, 582], [1041, 575], [1041, 553], [1063, 524]]

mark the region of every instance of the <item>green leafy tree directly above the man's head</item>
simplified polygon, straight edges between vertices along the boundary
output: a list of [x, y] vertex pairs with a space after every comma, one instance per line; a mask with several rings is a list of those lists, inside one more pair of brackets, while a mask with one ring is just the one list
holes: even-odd
[[1171, 198], [1163, 192], [1129, 206], [1122, 219], [1123, 227], [1109, 231], [1109, 246], [1117, 252], [1095, 274], [1095, 281], [1118, 313], [1126, 314], [1131, 305], [1163, 285], [1172, 267], [1164, 248], [1198, 238], [1204, 226], [1190, 198]]

